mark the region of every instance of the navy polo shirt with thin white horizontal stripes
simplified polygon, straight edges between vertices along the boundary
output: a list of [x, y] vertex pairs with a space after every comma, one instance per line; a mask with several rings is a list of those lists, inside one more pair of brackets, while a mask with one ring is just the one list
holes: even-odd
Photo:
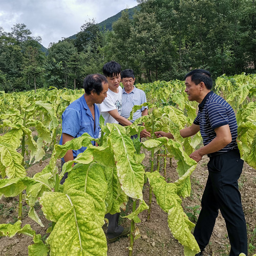
[[237, 149], [237, 119], [232, 107], [220, 96], [210, 91], [199, 104], [199, 111], [194, 124], [200, 125], [203, 144], [209, 144], [215, 137], [215, 129], [228, 124], [232, 141], [218, 153], [225, 153]]

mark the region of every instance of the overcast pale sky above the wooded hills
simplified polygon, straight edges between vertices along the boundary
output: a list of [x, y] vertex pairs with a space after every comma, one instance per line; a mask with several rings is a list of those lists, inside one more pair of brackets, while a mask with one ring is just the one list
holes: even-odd
[[13, 25], [25, 24], [48, 48], [50, 42], [79, 32], [89, 19], [100, 23], [136, 5], [136, 0], [0, 0], [0, 26], [11, 32]]

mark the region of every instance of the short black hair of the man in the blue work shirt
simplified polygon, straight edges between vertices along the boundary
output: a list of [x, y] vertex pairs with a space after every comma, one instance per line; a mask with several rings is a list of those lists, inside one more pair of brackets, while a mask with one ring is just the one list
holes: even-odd
[[108, 83], [108, 80], [101, 74], [88, 75], [83, 80], [83, 89], [87, 95], [90, 95], [92, 91], [98, 95], [102, 92], [102, 83]]

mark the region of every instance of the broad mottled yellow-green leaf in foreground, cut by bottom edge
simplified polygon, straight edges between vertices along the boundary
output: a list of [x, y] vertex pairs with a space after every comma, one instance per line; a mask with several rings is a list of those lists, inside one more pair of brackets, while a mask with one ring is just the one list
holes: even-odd
[[95, 215], [92, 198], [82, 191], [44, 193], [40, 204], [46, 217], [56, 222], [47, 242], [51, 255], [106, 255], [102, 221]]

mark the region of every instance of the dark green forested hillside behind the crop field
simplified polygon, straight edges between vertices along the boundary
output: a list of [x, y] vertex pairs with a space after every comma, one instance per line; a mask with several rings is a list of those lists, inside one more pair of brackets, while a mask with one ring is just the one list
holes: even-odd
[[214, 77], [255, 73], [254, 0], [137, 2], [133, 19], [123, 11], [111, 31], [89, 20], [75, 38], [52, 44], [48, 55], [26, 25], [14, 25], [12, 33], [1, 28], [0, 90], [81, 88], [83, 77], [101, 73], [109, 60], [132, 68], [139, 82], [183, 79], [194, 68]]

